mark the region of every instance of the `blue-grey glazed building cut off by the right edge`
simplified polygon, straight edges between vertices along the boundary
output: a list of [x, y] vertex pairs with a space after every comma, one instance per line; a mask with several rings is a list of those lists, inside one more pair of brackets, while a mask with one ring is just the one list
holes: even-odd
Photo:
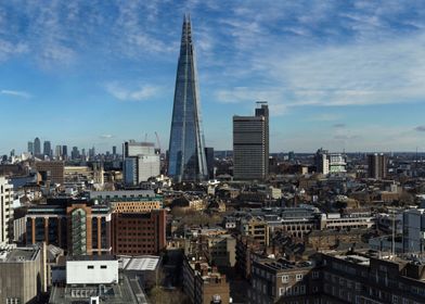
[[425, 252], [425, 210], [410, 208], [403, 212], [403, 252]]

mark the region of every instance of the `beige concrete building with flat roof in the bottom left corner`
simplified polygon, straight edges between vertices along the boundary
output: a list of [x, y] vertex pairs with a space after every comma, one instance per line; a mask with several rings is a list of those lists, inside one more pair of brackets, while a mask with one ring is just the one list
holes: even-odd
[[46, 291], [42, 248], [0, 248], [0, 303], [40, 303]]

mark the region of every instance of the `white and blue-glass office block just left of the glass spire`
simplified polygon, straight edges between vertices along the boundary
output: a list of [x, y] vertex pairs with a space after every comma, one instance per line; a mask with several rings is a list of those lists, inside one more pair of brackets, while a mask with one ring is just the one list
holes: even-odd
[[153, 142], [126, 141], [123, 145], [123, 156], [126, 185], [138, 185], [159, 175], [160, 160]]

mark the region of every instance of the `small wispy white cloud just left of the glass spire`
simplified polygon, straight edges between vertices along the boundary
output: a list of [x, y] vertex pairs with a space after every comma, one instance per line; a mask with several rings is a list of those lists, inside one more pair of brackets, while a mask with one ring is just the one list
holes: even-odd
[[155, 97], [160, 91], [160, 87], [158, 86], [139, 85], [129, 88], [119, 83], [110, 83], [105, 86], [105, 89], [120, 101], [144, 101]]

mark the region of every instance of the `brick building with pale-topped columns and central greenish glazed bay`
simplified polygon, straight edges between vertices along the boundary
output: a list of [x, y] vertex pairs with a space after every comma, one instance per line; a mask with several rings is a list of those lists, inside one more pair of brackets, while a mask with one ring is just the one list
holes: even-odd
[[57, 201], [31, 206], [26, 215], [26, 243], [53, 244], [70, 255], [110, 254], [112, 211], [86, 201]]

